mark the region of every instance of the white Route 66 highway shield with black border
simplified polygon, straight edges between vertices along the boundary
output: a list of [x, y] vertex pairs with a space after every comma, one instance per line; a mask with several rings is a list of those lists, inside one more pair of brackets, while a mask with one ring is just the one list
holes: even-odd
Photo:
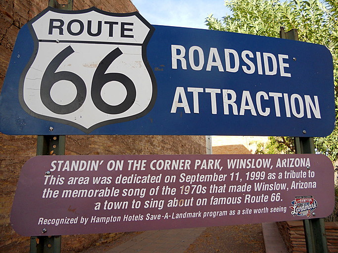
[[146, 45], [154, 28], [139, 13], [47, 8], [28, 25], [35, 54], [20, 79], [26, 112], [90, 133], [152, 109]]

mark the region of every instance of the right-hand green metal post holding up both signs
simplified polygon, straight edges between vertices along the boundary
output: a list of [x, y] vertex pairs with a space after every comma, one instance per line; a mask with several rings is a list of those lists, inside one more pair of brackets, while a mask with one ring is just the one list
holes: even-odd
[[[284, 27], [281, 27], [280, 36], [282, 39], [294, 41], [299, 40], [297, 29], [291, 29], [289, 32], [286, 33], [284, 31]], [[297, 154], [315, 153], [313, 137], [294, 137], [294, 146]], [[326, 239], [324, 219], [304, 219], [303, 225], [305, 233], [306, 252], [327, 253], [328, 243]]]

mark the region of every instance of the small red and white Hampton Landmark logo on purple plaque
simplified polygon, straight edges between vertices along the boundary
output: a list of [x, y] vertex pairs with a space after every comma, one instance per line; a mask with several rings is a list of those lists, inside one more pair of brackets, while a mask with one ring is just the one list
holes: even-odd
[[317, 208], [317, 201], [313, 196], [296, 196], [293, 201], [291, 201], [292, 209], [291, 214], [297, 216], [307, 216], [310, 217], [311, 213]]

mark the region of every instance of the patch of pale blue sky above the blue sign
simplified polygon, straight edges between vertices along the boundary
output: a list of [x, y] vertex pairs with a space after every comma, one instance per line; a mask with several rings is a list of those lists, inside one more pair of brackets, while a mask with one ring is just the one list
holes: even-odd
[[222, 18], [230, 11], [224, 0], [132, 0], [141, 15], [152, 25], [207, 29], [208, 14]]

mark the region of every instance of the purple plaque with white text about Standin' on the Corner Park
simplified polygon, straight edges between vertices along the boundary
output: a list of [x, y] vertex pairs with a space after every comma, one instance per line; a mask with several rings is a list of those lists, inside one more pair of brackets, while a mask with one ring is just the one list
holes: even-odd
[[38, 156], [10, 222], [24, 236], [91, 234], [319, 218], [334, 204], [323, 155]]

